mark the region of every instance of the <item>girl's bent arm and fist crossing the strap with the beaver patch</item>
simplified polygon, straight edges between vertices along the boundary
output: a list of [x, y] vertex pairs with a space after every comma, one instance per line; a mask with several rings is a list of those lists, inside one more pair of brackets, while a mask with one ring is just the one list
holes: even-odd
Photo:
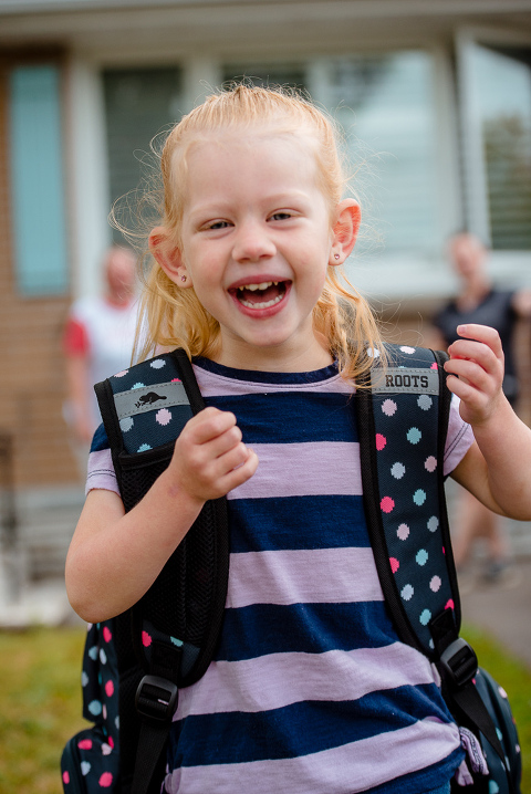
[[66, 591], [75, 612], [98, 623], [133, 606], [205, 502], [241, 485], [257, 466], [235, 415], [206, 408], [187, 422], [169, 467], [132, 511], [125, 513], [112, 491], [91, 491], [66, 558]]

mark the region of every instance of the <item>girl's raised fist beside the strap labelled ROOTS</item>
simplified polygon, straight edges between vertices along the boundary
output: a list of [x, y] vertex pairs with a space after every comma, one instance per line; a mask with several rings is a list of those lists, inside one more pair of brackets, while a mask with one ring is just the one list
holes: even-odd
[[[507, 399], [503, 382], [503, 349], [500, 336], [487, 325], [459, 325], [462, 338], [449, 346], [448, 388], [460, 397], [460, 414], [472, 426], [487, 422]], [[457, 377], [451, 377], [457, 376]], [[507, 404], [508, 406], [508, 404]]]

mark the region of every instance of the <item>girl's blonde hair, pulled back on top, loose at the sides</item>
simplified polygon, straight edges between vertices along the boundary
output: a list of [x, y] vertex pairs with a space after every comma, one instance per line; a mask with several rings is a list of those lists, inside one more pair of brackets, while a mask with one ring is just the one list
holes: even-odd
[[[209, 96], [171, 129], [160, 158], [164, 199], [162, 226], [167, 244], [180, 247], [186, 200], [187, 153], [212, 132], [251, 128], [268, 134], [302, 135], [312, 142], [319, 187], [330, 207], [331, 222], [347, 179], [340, 157], [340, 133], [325, 113], [285, 88], [237, 85]], [[368, 303], [337, 267], [329, 267], [321, 296], [313, 309], [313, 328], [329, 342], [345, 379], [360, 380], [371, 368], [367, 349], [382, 347]], [[192, 356], [211, 356], [219, 343], [219, 324], [199, 303], [192, 288], [179, 289], [154, 260], [145, 279], [142, 314], [147, 331], [140, 357], [156, 347], [183, 347]]]

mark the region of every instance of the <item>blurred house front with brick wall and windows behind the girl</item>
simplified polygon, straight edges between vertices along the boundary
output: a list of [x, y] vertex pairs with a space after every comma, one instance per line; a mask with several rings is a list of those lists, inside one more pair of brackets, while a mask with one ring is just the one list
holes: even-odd
[[491, 245], [494, 278], [531, 286], [530, 66], [531, 0], [0, 0], [0, 433], [15, 483], [77, 480], [67, 306], [123, 239], [116, 199], [138, 229], [152, 144], [210, 87], [295, 84], [336, 116], [365, 218], [348, 274], [417, 341], [454, 289], [458, 229]]

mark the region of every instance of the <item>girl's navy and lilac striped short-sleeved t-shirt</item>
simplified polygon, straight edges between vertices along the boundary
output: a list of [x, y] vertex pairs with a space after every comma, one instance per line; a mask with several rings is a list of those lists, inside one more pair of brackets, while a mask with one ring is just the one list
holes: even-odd
[[[195, 373], [258, 455], [228, 494], [229, 588], [205, 676], [179, 693], [168, 794], [421, 794], [462, 759], [437, 672], [384, 604], [362, 503], [353, 388], [312, 373]], [[445, 473], [472, 441], [450, 411]], [[87, 489], [116, 490], [96, 433]]]

